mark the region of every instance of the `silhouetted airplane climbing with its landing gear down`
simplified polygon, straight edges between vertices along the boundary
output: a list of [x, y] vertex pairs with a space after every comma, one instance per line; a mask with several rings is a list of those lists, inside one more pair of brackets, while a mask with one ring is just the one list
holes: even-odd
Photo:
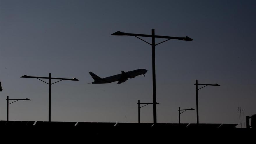
[[145, 74], [147, 73], [146, 69], [138, 69], [138, 70], [133, 70], [133, 71], [129, 71], [129, 72], [124, 72], [121, 70], [121, 74], [117, 74], [117, 75], [113, 75], [110, 77], [105, 77], [105, 78], [100, 78], [99, 76], [97, 76], [96, 74], [94, 74], [93, 72], [89, 72], [89, 74], [93, 77], [94, 81], [91, 82], [92, 84], [98, 84], [98, 83], [112, 83], [115, 81], [118, 81], [117, 84], [123, 83], [125, 81], [127, 81], [128, 78], [132, 79], [135, 78], [138, 75], [143, 74], [143, 76], [145, 77]]

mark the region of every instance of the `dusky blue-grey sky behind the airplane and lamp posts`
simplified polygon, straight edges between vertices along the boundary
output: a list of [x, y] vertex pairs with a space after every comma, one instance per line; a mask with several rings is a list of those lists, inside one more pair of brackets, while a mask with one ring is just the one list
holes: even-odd
[[[6, 120], [9, 96], [31, 99], [10, 104], [9, 120], [48, 121], [48, 85], [20, 77], [51, 73], [79, 79], [51, 86], [51, 121], [138, 122], [138, 100], [153, 101], [152, 49], [111, 34], [155, 29], [193, 39], [156, 46], [157, 122], [178, 123], [178, 107], [196, 109], [198, 79], [221, 85], [198, 91], [199, 122], [240, 123], [238, 107], [242, 117], [256, 114], [255, 6], [253, 0], [0, 0], [0, 120]], [[87, 84], [90, 71], [104, 78], [141, 68], [148, 70], [145, 77]], [[153, 122], [152, 105], [140, 111], [141, 122]], [[182, 113], [181, 123], [196, 123], [196, 111]]]

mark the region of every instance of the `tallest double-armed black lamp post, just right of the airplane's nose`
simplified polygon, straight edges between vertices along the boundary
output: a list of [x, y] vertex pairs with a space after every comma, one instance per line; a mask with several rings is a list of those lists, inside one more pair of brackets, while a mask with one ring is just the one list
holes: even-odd
[[[153, 79], [153, 120], [154, 124], [157, 123], [157, 106], [156, 106], [156, 65], [155, 65], [155, 46], [159, 45], [163, 42], [166, 42], [170, 39], [176, 39], [176, 40], [185, 40], [185, 41], [192, 41], [192, 38], [189, 37], [171, 37], [171, 36], [162, 36], [162, 35], [155, 35], [155, 29], [151, 29], [151, 35], [145, 35], [145, 34], [136, 34], [136, 33], [123, 33], [121, 31], [117, 31], [111, 35], [128, 35], [128, 36], [135, 36], [136, 38], [146, 42], [145, 40], [139, 38], [139, 37], [150, 37], [152, 38], [152, 43], [146, 42], [147, 44], [152, 46], [152, 79]], [[158, 44], [155, 44], [155, 38], [165, 38], [167, 40], [164, 40], [163, 42], [160, 42]]]

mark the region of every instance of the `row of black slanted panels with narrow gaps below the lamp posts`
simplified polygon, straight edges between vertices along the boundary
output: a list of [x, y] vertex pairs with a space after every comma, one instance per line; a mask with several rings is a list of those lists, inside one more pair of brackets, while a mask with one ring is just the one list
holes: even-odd
[[[34, 125], [35, 123], [35, 125]], [[0, 126], [34, 126], [34, 127], [77, 127], [77, 128], [158, 128], [158, 129], [232, 129], [238, 124], [188, 124], [188, 123], [122, 123], [122, 122], [48, 122], [48, 121], [0, 121]]]

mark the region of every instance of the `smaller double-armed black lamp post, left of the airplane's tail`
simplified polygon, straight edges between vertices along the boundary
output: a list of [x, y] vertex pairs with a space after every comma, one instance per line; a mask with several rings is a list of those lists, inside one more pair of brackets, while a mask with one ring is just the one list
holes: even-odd
[[[65, 79], [65, 78], [55, 78], [55, 77], [51, 77], [51, 73], [49, 73], [49, 77], [31, 77], [31, 76], [27, 76], [27, 75], [24, 75], [22, 76], [22, 78], [36, 78], [36, 79], [39, 79], [40, 81], [44, 82], [44, 83], [47, 83], [41, 79], [49, 79], [49, 83], [47, 83], [49, 85], [49, 122], [51, 121], [51, 85], [54, 84], [54, 83], [57, 83], [59, 81], [62, 81], [62, 80], [70, 80], [70, 81], [79, 81], [78, 79], [76, 78], [73, 78], [73, 79]], [[59, 81], [56, 81], [54, 83], [51, 83], [51, 79], [58, 79]]]

